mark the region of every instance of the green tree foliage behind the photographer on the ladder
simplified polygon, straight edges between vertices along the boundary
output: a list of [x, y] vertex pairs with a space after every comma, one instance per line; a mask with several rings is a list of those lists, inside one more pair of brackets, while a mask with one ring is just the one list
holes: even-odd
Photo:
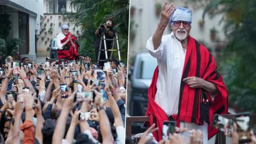
[[[121, 59], [127, 61], [129, 1], [128, 0], [71, 0], [71, 7], [77, 11], [69, 15], [69, 20], [82, 26], [82, 36], [79, 38], [79, 54], [88, 55], [96, 61], [94, 56], [94, 31], [107, 19], [115, 22], [114, 30], [119, 35]], [[114, 55], [117, 58], [116, 55]]]

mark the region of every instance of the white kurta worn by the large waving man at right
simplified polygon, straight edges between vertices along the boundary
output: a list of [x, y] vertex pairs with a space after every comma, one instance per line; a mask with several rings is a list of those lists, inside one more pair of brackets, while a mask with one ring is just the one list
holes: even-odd
[[[146, 44], [150, 55], [158, 61], [158, 79], [156, 81], [156, 103], [169, 116], [177, 114], [179, 108], [179, 94], [181, 77], [187, 50], [183, 50], [181, 42], [175, 38], [173, 32], [162, 36], [160, 46], [154, 50], [152, 37]], [[207, 143], [207, 124], [181, 122], [182, 128], [200, 129], [203, 132], [203, 143]]]

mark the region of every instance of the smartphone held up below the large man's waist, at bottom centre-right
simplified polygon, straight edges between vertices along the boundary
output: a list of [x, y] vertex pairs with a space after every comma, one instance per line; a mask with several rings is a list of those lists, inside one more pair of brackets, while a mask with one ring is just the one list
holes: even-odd
[[176, 133], [176, 122], [164, 121], [162, 126], [162, 139], [168, 139], [168, 135], [173, 133]]

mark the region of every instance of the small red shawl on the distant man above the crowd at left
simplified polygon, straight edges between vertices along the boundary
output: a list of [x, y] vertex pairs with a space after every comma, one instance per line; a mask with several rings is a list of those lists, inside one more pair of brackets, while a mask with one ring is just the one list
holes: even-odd
[[[61, 40], [61, 44], [63, 44], [67, 38], [69, 38], [70, 32]], [[57, 50], [59, 59], [68, 59], [75, 60], [78, 57], [78, 47], [77, 41], [75, 40], [75, 36], [71, 35], [71, 40], [75, 44], [75, 48], [72, 46], [71, 42], [67, 42], [65, 46], [63, 46], [62, 50]]]

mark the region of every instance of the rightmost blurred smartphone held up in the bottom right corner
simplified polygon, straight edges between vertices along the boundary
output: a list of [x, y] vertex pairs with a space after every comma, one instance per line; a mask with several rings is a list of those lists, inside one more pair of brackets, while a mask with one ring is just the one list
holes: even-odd
[[249, 113], [237, 114], [235, 118], [235, 122], [237, 125], [239, 143], [251, 142], [250, 114]]

